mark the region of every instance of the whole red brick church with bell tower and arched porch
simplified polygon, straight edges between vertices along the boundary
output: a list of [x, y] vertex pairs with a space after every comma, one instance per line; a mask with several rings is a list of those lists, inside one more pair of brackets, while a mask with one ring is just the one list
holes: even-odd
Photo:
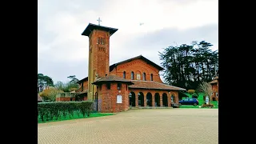
[[82, 32], [89, 37], [88, 77], [78, 82], [76, 100], [92, 100], [103, 113], [178, 103], [178, 91], [185, 89], [164, 84], [163, 68], [142, 55], [110, 66], [110, 36], [117, 30], [89, 23]]

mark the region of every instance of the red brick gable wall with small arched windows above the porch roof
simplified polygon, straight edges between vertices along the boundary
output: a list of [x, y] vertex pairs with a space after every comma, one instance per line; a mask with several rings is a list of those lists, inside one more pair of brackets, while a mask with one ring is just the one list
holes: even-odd
[[153, 74], [154, 82], [161, 82], [159, 76], [159, 70], [154, 66], [147, 64], [142, 59], [134, 59], [133, 61], [122, 63], [118, 65], [110, 74], [118, 75], [123, 78], [123, 72], [126, 71], [126, 79], [131, 79], [131, 71], [134, 71], [134, 79], [137, 79], [137, 74], [140, 74], [141, 80], [143, 80], [143, 73], [146, 73], [146, 81], [150, 81], [150, 74]]

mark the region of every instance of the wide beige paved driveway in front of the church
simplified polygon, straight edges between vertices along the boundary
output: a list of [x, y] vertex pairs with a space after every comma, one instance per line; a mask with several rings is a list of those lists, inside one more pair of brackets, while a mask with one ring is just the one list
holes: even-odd
[[218, 143], [218, 109], [148, 109], [38, 124], [38, 143]]

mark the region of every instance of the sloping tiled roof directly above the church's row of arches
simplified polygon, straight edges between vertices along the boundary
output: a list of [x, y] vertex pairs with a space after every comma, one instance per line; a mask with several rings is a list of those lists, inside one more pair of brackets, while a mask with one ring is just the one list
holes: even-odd
[[129, 88], [134, 89], [154, 89], [154, 90], [186, 90], [177, 86], [170, 86], [160, 82], [154, 81], [137, 81], [131, 80], [134, 85], [129, 86]]

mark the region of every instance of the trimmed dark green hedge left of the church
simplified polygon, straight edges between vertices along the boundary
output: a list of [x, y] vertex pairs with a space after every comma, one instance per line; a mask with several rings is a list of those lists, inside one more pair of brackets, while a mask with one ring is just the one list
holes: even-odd
[[43, 121], [60, 118], [62, 115], [73, 116], [74, 113], [82, 114], [83, 117], [90, 116], [93, 109], [93, 101], [82, 102], [40, 102], [38, 103], [38, 117]]

